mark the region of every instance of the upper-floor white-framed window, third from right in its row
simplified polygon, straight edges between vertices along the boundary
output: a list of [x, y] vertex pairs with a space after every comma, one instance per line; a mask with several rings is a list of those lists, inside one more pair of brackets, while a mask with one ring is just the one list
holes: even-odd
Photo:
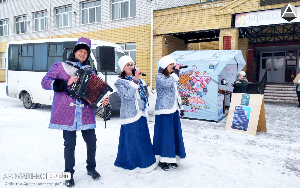
[[56, 28], [72, 26], [72, 6], [56, 9]]

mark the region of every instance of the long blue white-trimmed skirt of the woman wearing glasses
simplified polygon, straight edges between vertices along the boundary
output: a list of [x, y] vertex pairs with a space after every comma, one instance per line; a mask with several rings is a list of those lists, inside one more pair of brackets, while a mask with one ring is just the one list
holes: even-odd
[[146, 117], [121, 125], [113, 170], [125, 175], [146, 174], [157, 167]]

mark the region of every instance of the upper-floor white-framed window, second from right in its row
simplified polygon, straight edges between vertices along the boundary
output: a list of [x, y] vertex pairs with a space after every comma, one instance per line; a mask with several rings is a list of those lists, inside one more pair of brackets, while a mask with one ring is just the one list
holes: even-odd
[[101, 0], [82, 3], [82, 24], [101, 22]]

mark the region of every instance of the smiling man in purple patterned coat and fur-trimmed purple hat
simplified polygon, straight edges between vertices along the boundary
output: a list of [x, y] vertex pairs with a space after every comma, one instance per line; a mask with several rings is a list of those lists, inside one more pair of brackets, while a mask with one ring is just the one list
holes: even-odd
[[[63, 130], [64, 138], [64, 172], [71, 173], [71, 179], [66, 180], [69, 187], [74, 186], [73, 174], [75, 166], [75, 145], [76, 131], [81, 131], [87, 148], [87, 174], [93, 179], [100, 177], [96, 168], [96, 135], [95, 135], [95, 112], [83, 100], [71, 97], [66, 90], [70, 85], [78, 81], [77, 76], [73, 76], [76, 70], [74, 66], [88, 70], [88, 58], [91, 54], [91, 40], [79, 38], [73, 53], [70, 54], [67, 62], [55, 62], [42, 79], [42, 87], [46, 90], [53, 90], [54, 97], [51, 109], [51, 119], [49, 128]], [[72, 66], [72, 63], [74, 66]], [[109, 98], [109, 97], [108, 97]], [[103, 105], [109, 103], [109, 99], [104, 99]]]

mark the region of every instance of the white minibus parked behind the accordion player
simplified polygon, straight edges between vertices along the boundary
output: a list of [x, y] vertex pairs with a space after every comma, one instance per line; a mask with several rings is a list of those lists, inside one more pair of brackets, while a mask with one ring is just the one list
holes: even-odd
[[[78, 38], [58, 38], [8, 42], [5, 62], [7, 96], [20, 99], [27, 109], [39, 108], [41, 104], [52, 105], [54, 91], [43, 89], [41, 80], [53, 63], [67, 60], [77, 40]], [[118, 60], [125, 55], [124, 51], [115, 43], [92, 39], [89, 60], [91, 69], [95, 71], [97, 69], [95, 58], [97, 46], [115, 47], [116, 72], [107, 72], [107, 83], [114, 89], [114, 83], [120, 75]], [[105, 72], [98, 72], [98, 75], [105, 79]], [[148, 96], [145, 81], [143, 85]], [[120, 107], [121, 98], [114, 89], [110, 95], [107, 117], [110, 116], [112, 110], [119, 111]], [[104, 117], [104, 109], [96, 115]]]

